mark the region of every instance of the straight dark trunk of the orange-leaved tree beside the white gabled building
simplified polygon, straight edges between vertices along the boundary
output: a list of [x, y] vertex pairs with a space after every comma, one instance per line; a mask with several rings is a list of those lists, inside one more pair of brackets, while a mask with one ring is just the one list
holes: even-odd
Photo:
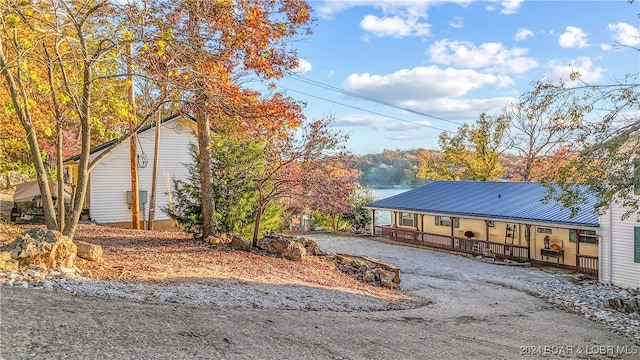
[[213, 173], [211, 171], [211, 151], [209, 149], [211, 135], [209, 134], [209, 117], [198, 110], [198, 148], [200, 160], [200, 191], [202, 196], [202, 238], [216, 234], [213, 212], [215, 203], [213, 198]]

